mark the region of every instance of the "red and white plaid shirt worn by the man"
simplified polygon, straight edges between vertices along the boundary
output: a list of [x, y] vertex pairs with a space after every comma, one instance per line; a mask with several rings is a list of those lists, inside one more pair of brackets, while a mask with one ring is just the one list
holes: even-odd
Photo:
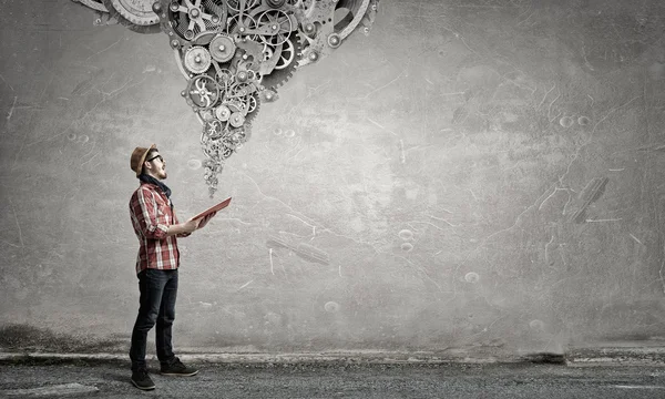
[[176, 269], [180, 252], [175, 235], [166, 236], [168, 226], [177, 224], [171, 201], [156, 185], [141, 183], [130, 201], [130, 216], [141, 246], [136, 274], [146, 268]]

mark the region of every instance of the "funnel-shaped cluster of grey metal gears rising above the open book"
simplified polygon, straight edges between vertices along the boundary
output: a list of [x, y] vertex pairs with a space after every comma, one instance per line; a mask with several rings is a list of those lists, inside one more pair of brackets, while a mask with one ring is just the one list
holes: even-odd
[[356, 31], [369, 34], [379, 0], [74, 0], [132, 31], [162, 31], [186, 80], [181, 92], [201, 124], [211, 196], [252, 120], [296, 69]]

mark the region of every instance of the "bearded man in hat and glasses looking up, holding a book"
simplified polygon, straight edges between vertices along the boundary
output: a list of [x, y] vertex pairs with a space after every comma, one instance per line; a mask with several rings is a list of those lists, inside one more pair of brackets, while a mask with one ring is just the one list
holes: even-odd
[[186, 237], [204, 227], [215, 213], [202, 219], [190, 218], [185, 223], [178, 223], [171, 202], [171, 190], [161, 182], [166, 178], [166, 162], [154, 144], [149, 149], [134, 149], [130, 166], [141, 181], [141, 186], [130, 201], [132, 225], [141, 243], [136, 257], [141, 298], [139, 316], [132, 331], [130, 359], [132, 382], [139, 389], [150, 390], [154, 389], [155, 385], [147, 374], [145, 350], [147, 331], [155, 324], [161, 374], [194, 376], [198, 372], [183, 365], [173, 355], [171, 345], [180, 266], [176, 237]]

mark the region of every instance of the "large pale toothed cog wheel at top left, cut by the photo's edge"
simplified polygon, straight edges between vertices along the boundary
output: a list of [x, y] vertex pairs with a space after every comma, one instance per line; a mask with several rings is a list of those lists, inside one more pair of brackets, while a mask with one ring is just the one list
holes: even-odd
[[[99, 2], [99, 1], [98, 1]], [[160, 32], [160, 18], [153, 11], [151, 0], [101, 0], [109, 16], [117, 23], [136, 33]]]

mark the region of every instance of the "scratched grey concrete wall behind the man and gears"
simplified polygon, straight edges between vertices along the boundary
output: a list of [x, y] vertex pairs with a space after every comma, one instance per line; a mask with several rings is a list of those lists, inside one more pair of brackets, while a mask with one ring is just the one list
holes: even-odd
[[[216, 200], [232, 206], [180, 242], [176, 347], [491, 357], [662, 339], [665, 6], [380, 6], [228, 160]], [[124, 350], [130, 153], [157, 143], [185, 218], [214, 203], [201, 125], [163, 33], [94, 27], [65, 0], [2, 9], [3, 347], [38, 329], [31, 345]]]

